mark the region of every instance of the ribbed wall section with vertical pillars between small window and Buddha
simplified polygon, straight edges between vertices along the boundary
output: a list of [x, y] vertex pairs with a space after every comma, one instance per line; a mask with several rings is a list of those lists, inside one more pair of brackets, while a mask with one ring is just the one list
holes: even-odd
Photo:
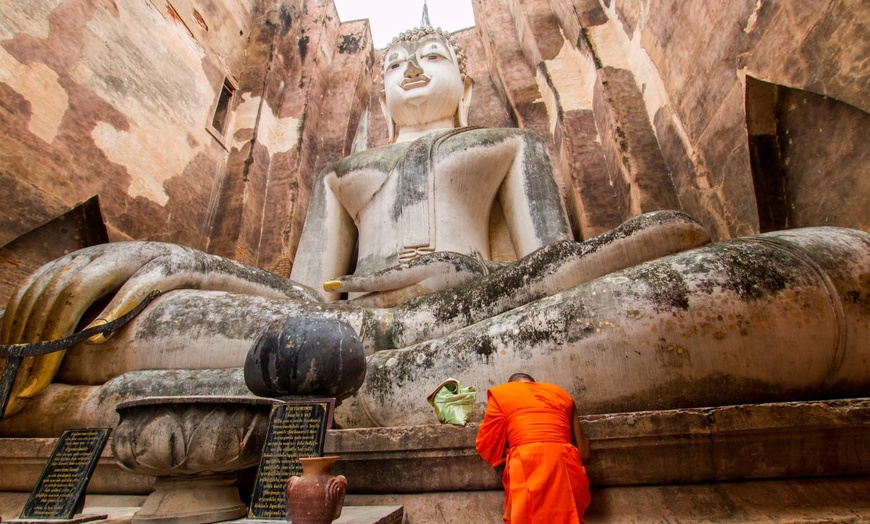
[[331, 1], [262, 6], [208, 250], [289, 274], [314, 179], [350, 152], [374, 59], [368, 24], [342, 25]]

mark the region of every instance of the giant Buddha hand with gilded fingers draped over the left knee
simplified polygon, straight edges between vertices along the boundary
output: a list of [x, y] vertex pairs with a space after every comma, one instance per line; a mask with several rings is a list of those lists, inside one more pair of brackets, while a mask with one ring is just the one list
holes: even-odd
[[[182, 246], [157, 242], [101, 244], [50, 262], [27, 278], [6, 306], [0, 323], [0, 343], [66, 337], [88, 309], [113, 293], [97, 320], [87, 327], [124, 315], [155, 289], [166, 292], [182, 288], [316, 300], [313, 291], [276, 275]], [[20, 410], [20, 399], [45, 389], [63, 353], [22, 361], [7, 413]]]

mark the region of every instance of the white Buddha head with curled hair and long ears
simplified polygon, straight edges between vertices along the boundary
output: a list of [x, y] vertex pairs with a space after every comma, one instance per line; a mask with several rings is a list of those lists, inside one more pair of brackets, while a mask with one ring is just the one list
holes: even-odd
[[468, 125], [473, 82], [449, 33], [423, 27], [394, 38], [384, 53], [383, 80], [381, 108], [390, 142], [402, 129]]

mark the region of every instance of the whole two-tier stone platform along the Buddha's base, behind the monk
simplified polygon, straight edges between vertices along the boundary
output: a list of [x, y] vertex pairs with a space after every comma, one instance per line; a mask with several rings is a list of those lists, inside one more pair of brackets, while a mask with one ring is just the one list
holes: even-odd
[[[581, 420], [592, 447], [590, 524], [870, 522], [870, 399]], [[341, 456], [333, 472], [348, 479], [348, 505], [404, 506], [409, 523], [451, 522], [456, 511], [498, 522], [500, 472], [475, 453], [476, 432], [476, 424], [330, 430], [325, 453]], [[0, 439], [0, 492], [29, 492], [55, 442]], [[242, 478], [244, 493], [253, 479]], [[87, 504], [98, 494], [145, 495], [153, 483], [118, 466], [106, 446]], [[4, 520], [17, 516], [3, 508]]]

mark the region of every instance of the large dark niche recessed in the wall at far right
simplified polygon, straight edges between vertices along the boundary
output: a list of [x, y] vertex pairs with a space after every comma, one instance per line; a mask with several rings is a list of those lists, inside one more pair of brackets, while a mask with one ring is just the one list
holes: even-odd
[[746, 77], [746, 130], [761, 232], [870, 224], [870, 112]]

